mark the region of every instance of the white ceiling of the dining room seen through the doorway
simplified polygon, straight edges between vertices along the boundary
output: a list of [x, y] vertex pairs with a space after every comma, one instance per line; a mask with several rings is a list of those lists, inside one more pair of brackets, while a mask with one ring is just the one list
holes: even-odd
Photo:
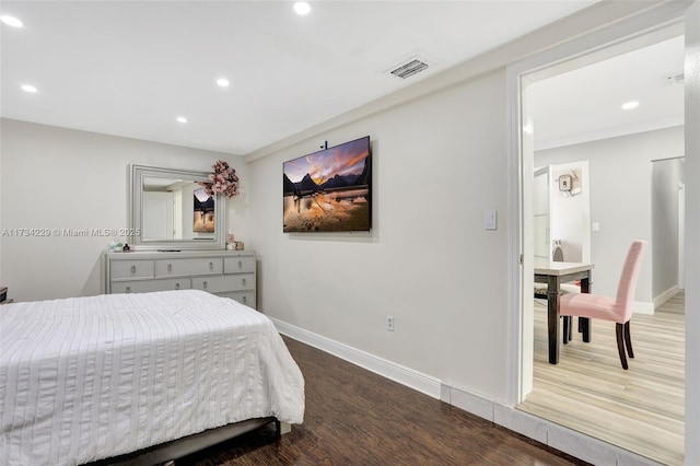
[[[652, 45], [535, 82], [535, 149], [682, 125], [684, 37], [648, 40]], [[627, 102], [639, 106], [623, 109]]]

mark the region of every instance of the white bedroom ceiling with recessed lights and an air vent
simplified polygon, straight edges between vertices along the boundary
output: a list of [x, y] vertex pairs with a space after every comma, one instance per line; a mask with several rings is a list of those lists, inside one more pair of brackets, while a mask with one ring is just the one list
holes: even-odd
[[593, 3], [2, 1], [1, 116], [244, 155]]

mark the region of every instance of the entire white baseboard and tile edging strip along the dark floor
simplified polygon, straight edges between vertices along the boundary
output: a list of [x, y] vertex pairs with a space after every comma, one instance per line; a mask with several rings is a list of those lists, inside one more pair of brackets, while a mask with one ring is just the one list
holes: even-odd
[[383, 358], [270, 317], [278, 331], [433, 398], [494, 422], [560, 452], [595, 465], [658, 465], [627, 450], [556, 424], [515, 407], [441, 383]]

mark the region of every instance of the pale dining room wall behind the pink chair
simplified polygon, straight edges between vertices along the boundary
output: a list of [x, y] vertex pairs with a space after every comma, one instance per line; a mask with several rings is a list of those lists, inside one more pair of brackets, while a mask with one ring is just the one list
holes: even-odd
[[[593, 291], [615, 296], [622, 263], [633, 240], [652, 240], [652, 160], [682, 155], [684, 128], [666, 128], [619, 138], [537, 151], [537, 166], [590, 161]], [[653, 303], [652, 254], [648, 249], [637, 301]]]

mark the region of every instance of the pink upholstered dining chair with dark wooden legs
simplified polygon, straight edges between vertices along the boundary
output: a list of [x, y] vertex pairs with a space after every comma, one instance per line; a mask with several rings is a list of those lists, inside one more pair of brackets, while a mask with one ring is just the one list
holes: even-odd
[[[627, 369], [627, 354], [634, 358], [632, 340], [630, 339], [630, 317], [634, 304], [634, 291], [637, 278], [642, 264], [642, 255], [646, 248], [645, 241], [635, 241], [630, 246], [620, 273], [615, 299], [593, 293], [564, 294], [559, 299], [559, 313], [563, 316], [579, 316], [586, 318], [599, 318], [616, 323], [617, 351], [620, 354], [622, 368]], [[583, 325], [583, 340], [590, 339], [590, 325]], [[564, 337], [565, 338], [565, 337]]]

